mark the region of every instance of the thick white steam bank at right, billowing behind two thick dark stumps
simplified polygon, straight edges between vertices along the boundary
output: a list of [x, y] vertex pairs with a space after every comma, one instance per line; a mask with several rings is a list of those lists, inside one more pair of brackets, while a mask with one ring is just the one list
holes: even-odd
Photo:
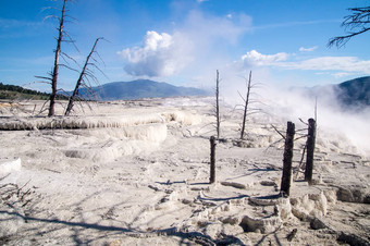
[[[314, 118], [316, 97], [307, 94], [308, 88], [289, 89], [272, 86], [260, 91], [269, 104], [269, 112], [285, 121], [299, 123]], [[369, 156], [370, 137], [368, 122], [370, 110], [344, 110], [337, 101], [337, 91], [330, 86], [323, 86], [317, 91], [318, 135], [323, 136], [330, 145], [341, 151]], [[326, 143], [326, 144], [328, 144]]]

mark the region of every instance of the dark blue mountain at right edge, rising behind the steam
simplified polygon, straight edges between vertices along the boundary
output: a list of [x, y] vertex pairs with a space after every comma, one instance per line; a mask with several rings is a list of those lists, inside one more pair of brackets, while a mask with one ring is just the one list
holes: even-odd
[[358, 77], [334, 86], [344, 107], [370, 106], [370, 76]]

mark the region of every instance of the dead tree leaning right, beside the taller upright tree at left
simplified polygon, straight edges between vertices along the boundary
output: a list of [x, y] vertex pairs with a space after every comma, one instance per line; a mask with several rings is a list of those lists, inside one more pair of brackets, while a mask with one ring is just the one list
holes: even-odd
[[[77, 98], [77, 96], [78, 96], [81, 86], [82, 86], [82, 85], [85, 85], [85, 88], [86, 88], [86, 89], [91, 89], [91, 86], [90, 86], [90, 85], [87, 85], [87, 84], [85, 83], [85, 79], [88, 79], [88, 77], [90, 77], [90, 78], [92, 78], [92, 79], [96, 81], [96, 77], [94, 76], [92, 72], [89, 71], [88, 66], [95, 66], [95, 67], [97, 67], [97, 65], [96, 65], [94, 62], [92, 62], [92, 63], [90, 62], [90, 59], [94, 59], [94, 58], [92, 58], [92, 54], [96, 52], [95, 49], [96, 49], [96, 47], [97, 47], [97, 45], [98, 45], [98, 41], [99, 41], [100, 39], [102, 39], [102, 38], [100, 37], [100, 38], [97, 38], [97, 39], [95, 40], [95, 44], [94, 44], [94, 46], [92, 46], [92, 49], [91, 49], [91, 51], [89, 52], [89, 54], [87, 56], [87, 58], [86, 58], [85, 64], [84, 64], [84, 66], [83, 66], [83, 70], [82, 70], [81, 73], [79, 73], [79, 77], [78, 77], [78, 79], [77, 79], [76, 86], [75, 86], [75, 88], [74, 88], [74, 90], [73, 90], [72, 96], [71, 96], [70, 99], [69, 99], [69, 104], [67, 104], [66, 110], [65, 110], [65, 113], [64, 113], [65, 116], [70, 115], [70, 113], [71, 113], [71, 111], [72, 111], [72, 108], [73, 108], [73, 106], [74, 106], [74, 102], [75, 102], [75, 100], [76, 100], [76, 98]], [[98, 67], [97, 67], [97, 69], [98, 69]]]

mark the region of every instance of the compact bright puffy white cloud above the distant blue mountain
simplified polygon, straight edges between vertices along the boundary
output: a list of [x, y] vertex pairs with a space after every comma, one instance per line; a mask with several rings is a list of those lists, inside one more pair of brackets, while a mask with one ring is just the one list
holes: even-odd
[[187, 51], [192, 44], [180, 34], [158, 34], [155, 30], [147, 32], [143, 47], [133, 47], [119, 51], [128, 63], [125, 71], [135, 76], [147, 75], [170, 76], [181, 71], [192, 58]]

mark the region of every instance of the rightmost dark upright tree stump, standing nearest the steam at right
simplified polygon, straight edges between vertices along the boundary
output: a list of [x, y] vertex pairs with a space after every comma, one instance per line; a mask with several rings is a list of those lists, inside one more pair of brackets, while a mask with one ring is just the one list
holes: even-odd
[[307, 158], [305, 170], [305, 181], [308, 182], [312, 181], [314, 142], [316, 142], [316, 121], [313, 119], [309, 119], [307, 136]]

